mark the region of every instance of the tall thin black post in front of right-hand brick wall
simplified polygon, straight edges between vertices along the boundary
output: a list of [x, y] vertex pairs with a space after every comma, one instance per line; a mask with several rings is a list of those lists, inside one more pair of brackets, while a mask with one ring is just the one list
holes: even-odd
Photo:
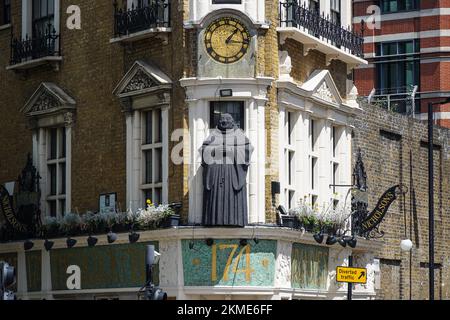
[[428, 237], [429, 237], [429, 296], [434, 300], [434, 142], [433, 142], [433, 106], [450, 103], [450, 97], [441, 102], [428, 103]]

